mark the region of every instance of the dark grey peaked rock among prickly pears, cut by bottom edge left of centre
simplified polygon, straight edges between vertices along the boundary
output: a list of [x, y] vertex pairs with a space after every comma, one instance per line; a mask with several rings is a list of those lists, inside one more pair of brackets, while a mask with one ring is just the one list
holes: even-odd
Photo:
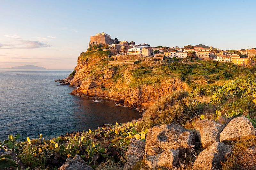
[[87, 165], [85, 161], [76, 155], [73, 159], [68, 158], [58, 170], [93, 170], [91, 166]]

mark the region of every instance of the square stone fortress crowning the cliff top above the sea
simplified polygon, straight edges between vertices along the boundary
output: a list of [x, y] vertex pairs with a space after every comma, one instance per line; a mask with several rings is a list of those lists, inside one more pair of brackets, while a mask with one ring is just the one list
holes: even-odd
[[91, 36], [89, 46], [93, 46], [95, 44], [101, 44], [101, 45], [115, 44], [115, 40], [111, 39], [110, 35], [104, 32], [97, 33], [95, 36]]

